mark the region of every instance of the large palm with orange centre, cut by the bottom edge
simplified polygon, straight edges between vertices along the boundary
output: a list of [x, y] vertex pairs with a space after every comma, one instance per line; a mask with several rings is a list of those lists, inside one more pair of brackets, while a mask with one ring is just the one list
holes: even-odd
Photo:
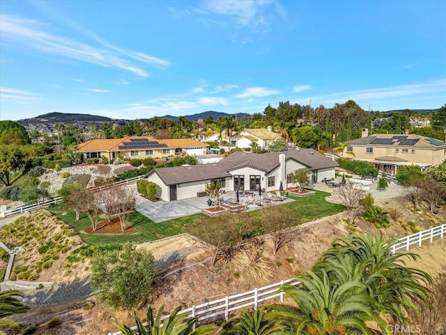
[[383, 329], [387, 323], [370, 307], [360, 281], [332, 285], [327, 272], [307, 271], [296, 277], [301, 288], [283, 285], [281, 290], [295, 301], [295, 306], [270, 306], [268, 318], [275, 318], [287, 327], [286, 334], [331, 335], [371, 334], [368, 321]]

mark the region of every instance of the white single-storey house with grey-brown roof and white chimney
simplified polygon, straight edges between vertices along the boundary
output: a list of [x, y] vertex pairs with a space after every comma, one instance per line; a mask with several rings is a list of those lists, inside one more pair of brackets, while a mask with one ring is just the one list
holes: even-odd
[[225, 191], [276, 191], [293, 186], [290, 174], [308, 168], [313, 182], [334, 177], [338, 164], [313, 149], [252, 154], [234, 152], [218, 163], [155, 168], [148, 181], [161, 188], [164, 201], [206, 195], [206, 184], [220, 181]]

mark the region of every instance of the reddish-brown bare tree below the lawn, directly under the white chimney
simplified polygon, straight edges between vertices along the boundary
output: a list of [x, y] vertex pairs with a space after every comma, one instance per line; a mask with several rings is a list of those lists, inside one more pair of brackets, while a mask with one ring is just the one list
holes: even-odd
[[300, 230], [286, 229], [294, 225], [300, 225], [302, 219], [295, 216], [293, 212], [284, 207], [268, 207], [261, 210], [261, 224], [263, 231], [270, 234], [272, 239], [272, 253], [276, 254], [280, 248], [295, 240], [300, 234]]

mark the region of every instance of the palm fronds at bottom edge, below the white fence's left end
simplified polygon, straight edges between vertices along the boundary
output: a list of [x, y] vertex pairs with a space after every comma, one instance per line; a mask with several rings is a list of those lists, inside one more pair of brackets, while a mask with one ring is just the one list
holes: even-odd
[[178, 306], [174, 311], [164, 320], [162, 320], [163, 308], [158, 309], [155, 318], [153, 317], [153, 310], [151, 307], [147, 309], [147, 323], [143, 325], [141, 320], [135, 315], [134, 320], [137, 324], [137, 329], [130, 329], [126, 325], [119, 325], [116, 320], [113, 324], [125, 335], [206, 335], [213, 332], [215, 327], [213, 325], [200, 326], [194, 329], [197, 323], [197, 318], [188, 318], [187, 313], [179, 314], [181, 307]]

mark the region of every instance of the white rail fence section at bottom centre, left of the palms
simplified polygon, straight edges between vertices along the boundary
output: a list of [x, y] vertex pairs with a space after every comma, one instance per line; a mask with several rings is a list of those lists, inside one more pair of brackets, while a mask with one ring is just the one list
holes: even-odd
[[[279, 298], [280, 302], [283, 303], [284, 292], [279, 292], [279, 288], [285, 283], [293, 286], [300, 285], [300, 281], [289, 279], [287, 281], [264, 286], [263, 288], [254, 288], [254, 290], [239, 293], [238, 295], [226, 296], [222, 299], [192, 306], [181, 310], [178, 314], [187, 313], [187, 318], [198, 318], [199, 321], [219, 320], [222, 319], [222, 317], [224, 317], [225, 320], [228, 320], [231, 312], [249, 306], [254, 306], [254, 309], [257, 309], [259, 304], [263, 301]], [[169, 315], [164, 315], [162, 320], [165, 320], [168, 317]], [[144, 323], [144, 325], [147, 324]], [[137, 329], [137, 327], [132, 327], [131, 329]], [[118, 334], [122, 334], [122, 332], [109, 333], [108, 335]]]

